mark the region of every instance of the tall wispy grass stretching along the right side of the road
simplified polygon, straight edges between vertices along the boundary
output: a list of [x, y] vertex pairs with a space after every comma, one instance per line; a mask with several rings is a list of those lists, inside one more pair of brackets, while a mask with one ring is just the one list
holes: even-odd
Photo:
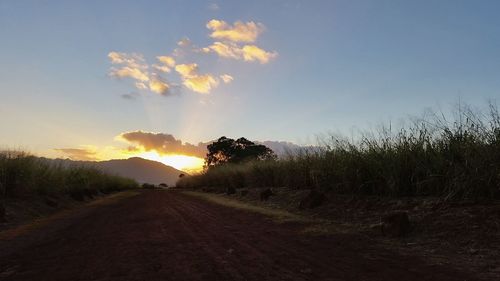
[[278, 161], [223, 165], [179, 180], [179, 187], [317, 188], [378, 196], [500, 198], [500, 115], [460, 105], [453, 117], [428, 114], [394, 130], [353, 139], [330, 135], [315, 149]]

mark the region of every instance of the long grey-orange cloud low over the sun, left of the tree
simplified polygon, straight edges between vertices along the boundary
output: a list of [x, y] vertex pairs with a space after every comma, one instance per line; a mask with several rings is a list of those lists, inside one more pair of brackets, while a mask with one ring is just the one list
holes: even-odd
[[206, 156], [208, 145], [208, 143], [198, 143], [198, 145], [183, 143], [170, 134], [142, 131], [126, 132], [120, 134], [117, 139], [134, 144], [135, 147], [129, 147], [132, 151], [142, 148], [144, 151], [156, 151], [164, 155], [181, 154], [200, 158]]

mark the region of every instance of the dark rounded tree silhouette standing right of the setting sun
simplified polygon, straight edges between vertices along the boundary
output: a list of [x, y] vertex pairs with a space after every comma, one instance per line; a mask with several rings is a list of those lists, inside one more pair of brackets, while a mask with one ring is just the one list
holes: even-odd
[[246, 138], [233, 140], [220, 137], [207, 146], [205, 167], [211, 168], [226, 163], [242, 163], [251, 160], [274, 160], [276, 154], [267, 146], [255, 144]]

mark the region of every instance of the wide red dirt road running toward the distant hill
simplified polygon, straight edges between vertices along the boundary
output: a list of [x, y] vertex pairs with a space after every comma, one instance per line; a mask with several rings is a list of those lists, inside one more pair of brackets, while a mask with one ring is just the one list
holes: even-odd
[[478, 280], [361, 236], [300, 229], [148, 191], [0, 240], [0, 280]]

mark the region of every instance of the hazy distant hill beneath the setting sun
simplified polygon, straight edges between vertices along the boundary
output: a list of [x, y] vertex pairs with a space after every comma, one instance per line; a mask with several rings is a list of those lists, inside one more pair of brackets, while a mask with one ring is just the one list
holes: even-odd
[[186, 172], [177, 170], [163, 163], [147, 160], [139, 157], [129, 159], [117, 159], [108, 161], [74, 161], [70, 159], [47, 159], [54, 164], [62, 166], [90, 165], [106, 173], [115, 174], [127, 178], [135, 179], [139, 183], [166, 183], [169, 186], [175, 185], [180, 174]]

